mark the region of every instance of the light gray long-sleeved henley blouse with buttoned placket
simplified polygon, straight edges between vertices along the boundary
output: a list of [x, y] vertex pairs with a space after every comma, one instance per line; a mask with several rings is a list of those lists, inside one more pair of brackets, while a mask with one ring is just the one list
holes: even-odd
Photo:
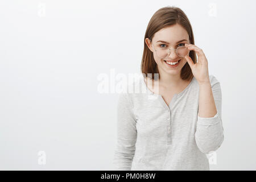
[[147, 88], [142, 73], [128, 84], [118, 97], [115, 169], [209, 170], [206, 154], [217, 150], [224, 140], [220, 82], [213, 75], [209, 78], [217, 107], [211, 118], [198, 115], [199, 84], [195, 77], [174, 95], [169, 106], [160, 94]]

